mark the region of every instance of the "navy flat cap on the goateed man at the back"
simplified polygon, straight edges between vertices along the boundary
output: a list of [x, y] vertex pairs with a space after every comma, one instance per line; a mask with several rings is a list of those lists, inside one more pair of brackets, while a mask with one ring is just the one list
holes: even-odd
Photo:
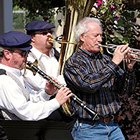
[[34, 20], [25, 26], [25, 29], [27, 31], [48, 30], [51, 28], [55, 28], [55, 26], [53, 24], [41, 20]]

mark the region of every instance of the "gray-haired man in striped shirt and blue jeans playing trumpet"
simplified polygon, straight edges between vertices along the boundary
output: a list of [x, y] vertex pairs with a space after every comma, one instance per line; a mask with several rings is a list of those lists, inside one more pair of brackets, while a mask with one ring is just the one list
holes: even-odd
[[135, 60], [126, 62], [126, 70], [119, 64], [135, 55], [128, 53], [128, 45], [118, 45], [112, 58], [101, 54], [99, 44], [102, 42], [102, 27], [97, 18], [83, 18], [75, 27], [75, 40], [81, 46], [66, 61], [64, 78], [72, 92], [95, 110], [99, 117], [92, 120], [87, 112], [77, 108], [78, 118], [72, 131], [73, 138], [124, 140], [118, 125], [121, 107], [119, 95], [134, 90]]

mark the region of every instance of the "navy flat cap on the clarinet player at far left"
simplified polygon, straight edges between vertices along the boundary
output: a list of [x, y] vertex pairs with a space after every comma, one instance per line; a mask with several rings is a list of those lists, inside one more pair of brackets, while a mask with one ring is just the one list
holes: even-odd
[[30, 50], [31, 36], [19, 31], [10, 31], [0, 35], [0, 46], [7, 48], [18, 48]]

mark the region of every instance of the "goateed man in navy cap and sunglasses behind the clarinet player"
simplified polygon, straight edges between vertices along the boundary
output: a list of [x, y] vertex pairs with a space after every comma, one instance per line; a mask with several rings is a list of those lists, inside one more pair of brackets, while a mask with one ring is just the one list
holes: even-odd
[[[56, 78], [61, 84], [64, 85], [65, 81], [63, 76], [58, 75], [59, 56], [56, 54], [56, 51], [53, 48], [53, 43], [49, 41], [50, 38], [53, 38], [53, 28], [55, 28], [53, 24], [41, 20], [34, 20], [25, 26], [27, 34], [31, 35], [31, 45], [33, 46], [27, 59], [32, 63], [37, 60], [39, 69], [41, 69], [47, 75]], [[44, 78], [42, 78], [38, 73], [33, 75], [32, 71], [30, 70], [26, 70], [24, 73], [24, 79], [32, 89], [36, 91], [44, 90]], [[52, 95], [54, 94], [48, 93], [48, 100], [52, 98]], [[68, 119], [63, 115], [64, 114], [61, 115], [61, 111], [55, 111], [50, 119]]]

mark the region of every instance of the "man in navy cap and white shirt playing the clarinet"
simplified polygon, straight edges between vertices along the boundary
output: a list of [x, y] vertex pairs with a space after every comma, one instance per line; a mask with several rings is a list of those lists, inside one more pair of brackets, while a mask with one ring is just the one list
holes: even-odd
[[[26, 65], [30, 35], [10, 31], [0, 35], [0, 110], [6, 120], [41, 120], [47, 118], [69, 99], [71, 91], [62, 87], [54, 99], [45, 91], [34, 91], [24, 81], [21, 70]], [[46, 81], [46, 85], [49, 82]], [[52, 92], [56, 88], [52, 86]]]

